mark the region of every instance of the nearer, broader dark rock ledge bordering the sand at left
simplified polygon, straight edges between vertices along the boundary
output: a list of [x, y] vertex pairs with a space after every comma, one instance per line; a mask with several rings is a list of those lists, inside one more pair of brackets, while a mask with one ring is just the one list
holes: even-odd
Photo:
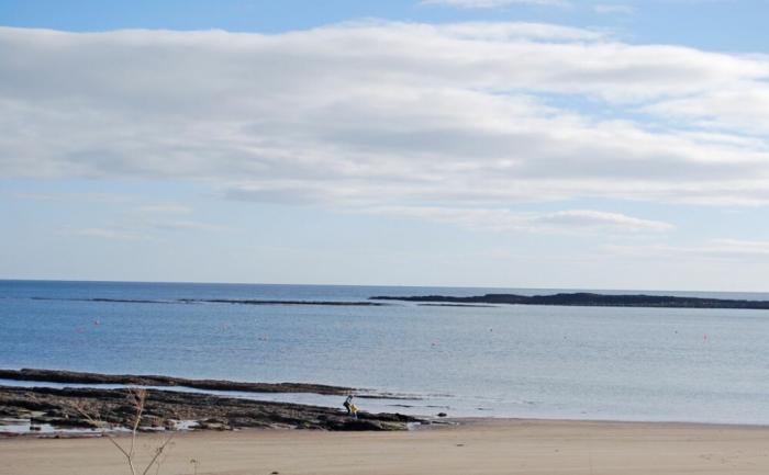
[[[0, 386], [0, 417], [31, 418], [54, 427], [93, 427], [83, 411], [110, 427], [129, 427], [135, 417], [125, 389]], [[326, 407], [269, 403], [200, 393], [148, 391], [141, 430], [172, 428], [196, 420], [200, 429], [293, 428], [322, 430], [404, 430], [417, 422], [399, 414], [359, 412], [354, 419]]]

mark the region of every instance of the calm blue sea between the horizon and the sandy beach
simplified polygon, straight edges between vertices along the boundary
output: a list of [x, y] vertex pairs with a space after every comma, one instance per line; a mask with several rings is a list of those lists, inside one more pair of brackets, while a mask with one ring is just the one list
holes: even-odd
[[364, 409], [422, 415], [769, 425], [767, 310], [179, 302], [486, 292], [558, 290], [0, 281], [0, 367], [345, 385], [405, 397]]

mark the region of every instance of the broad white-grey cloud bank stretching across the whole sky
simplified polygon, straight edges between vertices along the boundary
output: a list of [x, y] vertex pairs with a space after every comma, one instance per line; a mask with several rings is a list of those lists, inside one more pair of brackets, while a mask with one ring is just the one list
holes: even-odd
[[[580, 197], [760, 205], [769, 109], [751, 104], [767, 80], [762, 56], [530, 23], [5, 27], [0, 176], [183, 180], [406, 215]], [[562, 105], [573, 97], [649, 118]]]

